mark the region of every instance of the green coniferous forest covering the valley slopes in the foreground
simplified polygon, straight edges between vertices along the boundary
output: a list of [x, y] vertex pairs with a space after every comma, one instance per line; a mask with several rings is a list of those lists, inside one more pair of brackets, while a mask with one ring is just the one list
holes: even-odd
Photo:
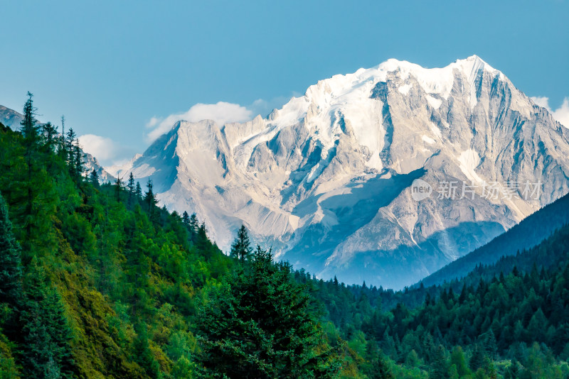
[[2, 379], [569, 376], [569, 226], [440, 286], [319, 280], [101, 184], [35, 114], [0, 124]]

